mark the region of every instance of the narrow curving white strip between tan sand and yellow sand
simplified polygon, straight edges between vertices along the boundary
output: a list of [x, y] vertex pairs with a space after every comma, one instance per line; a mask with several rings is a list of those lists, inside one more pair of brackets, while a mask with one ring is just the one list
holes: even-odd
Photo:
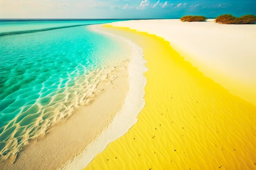
[[[98, 32], [108, 34], [111, 36], [120, 36], [109, 33], [102, 26], [92, 26], [93, 29], [97, 29]], [[148, 70], [145, 63], [146, 60], [143, 58], [142, 49], [135, 43], [128, 39], [122, 38], [133, 46], [133, 57], [130, 60], [128, 66], [128, 82], [129, 91], [125, 97], [124, 105], [117, 115], [114, 117], [108, 128], [104, 130], [101, 135], [88, 146], [88, 149], [84, 150], [83, 153], [74, 157], [60, 170], [81, 170], [87, 166], [94, 157], [101, 153], [105, 148], [119, 137], [125, 135], [130, 128], [138, 121], [137, 115], [139, 115], [142, 108], [145, 106], [144, 101], [144, 87], [146, 85], [146, 77], [144, 73]]]

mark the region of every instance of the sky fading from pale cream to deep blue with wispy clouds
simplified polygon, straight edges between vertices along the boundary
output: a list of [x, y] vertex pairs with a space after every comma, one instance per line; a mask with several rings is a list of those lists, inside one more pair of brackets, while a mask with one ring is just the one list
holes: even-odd
[[0, 0], [0, 18], [180, 18], [256, 15], [256, 0]]

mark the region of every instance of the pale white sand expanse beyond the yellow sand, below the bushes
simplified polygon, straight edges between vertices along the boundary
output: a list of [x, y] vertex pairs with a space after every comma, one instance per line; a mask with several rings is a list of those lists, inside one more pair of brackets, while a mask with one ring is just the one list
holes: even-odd
[[256, 25], [131, 20], [113, 26], [160, 36], [185, 60], [234, 95], [256, 104]]

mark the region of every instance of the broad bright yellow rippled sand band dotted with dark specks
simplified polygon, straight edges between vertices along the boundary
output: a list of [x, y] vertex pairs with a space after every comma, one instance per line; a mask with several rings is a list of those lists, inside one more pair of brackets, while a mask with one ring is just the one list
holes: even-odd
[[162, 38], [106, 29], [143, 48], [146, 106], [84, 170], [256, 169], [256, 106], [205, 77]]

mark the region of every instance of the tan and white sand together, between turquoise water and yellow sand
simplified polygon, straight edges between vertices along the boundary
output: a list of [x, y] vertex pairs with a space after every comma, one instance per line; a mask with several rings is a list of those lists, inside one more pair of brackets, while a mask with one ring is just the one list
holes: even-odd
[[[136, 123], [136, 116], [144, 107], [146, 84], [142, 74], [146, 71], [142, 50], [123, 42], [124, 38], [102, 32], [99, 27], [101, 25], [95, 25], [91, 29], [128, 43], [126, 48], [131, 51], [124, 54], [128, 58], [117, 63], [97, 85], [89, 104], [75, 108], [71, 116], [55, 123], [45, 135], [29, 141], [17, 157], [2, 161], [1, 170], [57, 170], [66, 168], [67, 164], [73, 166], [74, 162], [79, 167], [77, 156], [89, 155], [92, 159]], [[83, 168], [83, 164], [80, 166]]]

